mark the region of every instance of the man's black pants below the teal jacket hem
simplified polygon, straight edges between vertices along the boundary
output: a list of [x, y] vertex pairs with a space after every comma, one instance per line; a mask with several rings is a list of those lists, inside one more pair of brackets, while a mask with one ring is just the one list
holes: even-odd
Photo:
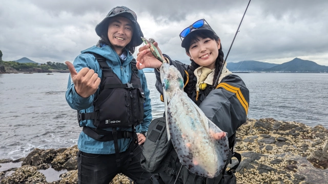
[[108, 184], [118, 173], [128, 176], [138, 184], [149, 183], [149, 178], [152, 174], [141, 168], [141, 147], [136, 144], [132, 152], [133, 155], [130, 162], [128, 161], [130, 150], [121, 152], [120, 167], [117, 167], [115, 154], [90, 154], [79, 151], [77, 153], [78, 183]]

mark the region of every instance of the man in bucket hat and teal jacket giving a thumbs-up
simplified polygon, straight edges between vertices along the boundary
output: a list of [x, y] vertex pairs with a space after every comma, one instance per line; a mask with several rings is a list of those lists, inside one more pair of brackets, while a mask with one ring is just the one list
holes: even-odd
[[139, 146], [152, 120], [149, 90], [132, 56], [143, 36], [137, 16], [127, 7], [116, 7], [95, 30], [97, 45], [82, 51], [73, 64], [66, 61], [71, 76], [66, 100], [83, 127], [78, 183], [108, 184], [118, 173], [136, 183], [149, 182], [151, 174], [140, 166]]

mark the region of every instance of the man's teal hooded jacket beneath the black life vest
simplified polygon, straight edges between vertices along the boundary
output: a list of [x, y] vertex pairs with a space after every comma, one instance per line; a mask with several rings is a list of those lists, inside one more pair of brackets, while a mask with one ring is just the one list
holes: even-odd
[[[131, 68], [131, 60], [133, 59], [133, 56], [128, 50], [127, 50], [128, 56], [123, 63], [121, 63], [120, 58], [116, 54], [116, 52], [108, 45], [105, 45], [102, 48], [93, 46], [87, 50], [81, 51], [81, 54], [78, 55], [73, 62], [75, 70], [79, 72], [82, 68], [89, 67], [90, 69], [94, 70], [95, 73], [98, 74], [98, 77], [100, 77], [101, 79], [103, 73], [101, 71], [99, 63], [97, 62], [96, 58], [92, 54], [85, 54], [86, 52], [93, 52], [105, 57], [107, 59], [107, 64], [112, 68], [113, 72], [117, 75], [117, 77], [121, 80], [121, 82], [124, 84], [130, 82], [133, 72]], [[147, 87], [145, 74], [142, 70], [139, 70], [138, 76], [141, 80], [142, 89], [144, 89], [144, 93], [146, 96], [145, 99], [146, 104], [144, 109], [145, 110], [144, 122], [136, 126], [135, 129], [136, 132], [147, 132], [148, 126], [152, 120], [149, 89]], [[70, 76], [68, 80], [67, 91], [66, 91], [66, 101], [73, 109], [79, 110], [81, 113], [93, 112], [94, 109], [93, 99], [95, 99], [96, 96], [99, 94], [99, 89], [96, 91], [95, 94], [91, 95], [88, 98], [80, 97], [75, 91], [74, 84]], [[93, 120], [81, 121], [80, 126], [88, 126], [88, 127], [95, 128], [95, 126], [93, 125]], [[107, 128], [105, 130], [112, 131], [112, 128]], [[117, 128], [117, 130], [132, 131], [132, 128]], [[130, 142], [131, 139], [119, 139], [118, 140], [119, 152], [125, 151], [128, 148]], [[96, 141], [91, 137], [89, 137], [88, 135], [86, 135], [83, 131], [81, 131], [79, 135], [77, 146], [80, 151], [86, 153], [93, 153], [93, 154], [115, 153], [113, 141], [108, 141], [108, 142]]]

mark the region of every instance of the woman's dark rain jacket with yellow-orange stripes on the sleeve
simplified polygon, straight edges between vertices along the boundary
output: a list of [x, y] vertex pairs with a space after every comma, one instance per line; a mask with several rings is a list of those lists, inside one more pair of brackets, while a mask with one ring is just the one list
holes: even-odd
[[[196, 77], [189, 79], [188, 64], [173, 61], [167, 55], [164, 55], [164, 57], [170, 60], [171, 65], [178, 68], [185, 84], [192, 82], [196, 86]], [[156, 88], [162, 95], [163, 87], [160, 81], [159, 71], [155, 70], [155, 74], [157, 79]], [[228, 137], [231, 137], [238, 127], [247, 120], [250, 101], [249, 90], [241, 78], [234, 74], [223, 77], [217, 87], [213, 89], [213, 86], [208, 85], [205, 90], [200, 90], [197, 101], [194, 87], [191, 99], [199, 106], [208, 119], [222, 131], [227, 132]]]

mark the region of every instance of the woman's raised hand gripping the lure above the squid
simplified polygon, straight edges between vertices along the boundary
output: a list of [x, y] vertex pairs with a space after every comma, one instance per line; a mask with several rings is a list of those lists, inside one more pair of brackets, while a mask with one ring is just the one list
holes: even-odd
[[[154, 42], [154, 46], [157, 48], [161, 58], [164, 59], [162, 52], [158, 49], [158, 43]], [[137, 53], [137, 68], [141, 70], [143, 68], [159, 68], [162, 64], [161, 61], [155, 58], [152, 52], [149, 49], [150, 45], [146, 44], [139, 48]]]

